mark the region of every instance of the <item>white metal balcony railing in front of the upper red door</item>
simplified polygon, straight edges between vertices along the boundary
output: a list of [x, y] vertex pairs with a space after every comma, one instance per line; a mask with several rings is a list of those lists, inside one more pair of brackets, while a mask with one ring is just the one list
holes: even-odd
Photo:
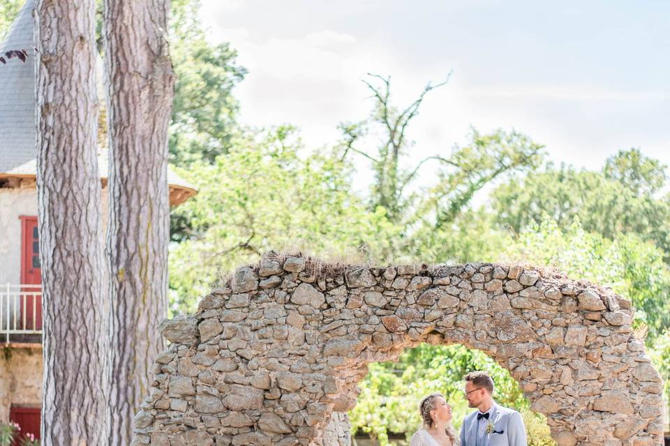
[[0, 285], [0, 342], [38, 342], [41, 334], [42, 286]]

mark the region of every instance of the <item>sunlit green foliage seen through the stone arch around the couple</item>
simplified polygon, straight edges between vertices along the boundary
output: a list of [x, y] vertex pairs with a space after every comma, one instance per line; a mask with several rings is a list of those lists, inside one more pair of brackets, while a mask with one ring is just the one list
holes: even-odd
[[394, 362], [368, 364], [355, 408], [345, 420], [336, 417], [334, 424], [341, 426], [332, 426], [331, 436], [337, 434], [338, 446], [348, 446], [342, 433], [350, 428], [352, 444], [357, 446], [409, 445], [412, 433], [422, 427], [419, 402], [433, 392], [443, 394], [452, 407], [452, 426], [459, 433], [463, 418], [474, 410], [463, 396], [462, 378], [475, 370], [485, 370], [493, 378], [496, 403], [521, 413], [529, 445], [556, 445], [546, 417], [530, 410], [530, 401], [509, 371], [486, 353], [461, 344], [422, 343], [405, 349]]

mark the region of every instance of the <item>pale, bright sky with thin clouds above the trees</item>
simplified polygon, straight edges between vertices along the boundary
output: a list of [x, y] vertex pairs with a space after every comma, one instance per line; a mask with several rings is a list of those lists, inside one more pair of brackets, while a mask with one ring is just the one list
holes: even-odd
[[523, 132], [576, 167], [631, 147], [670, 165], [668, 1], [202, 3], [209, 39], [248, 69], [239, 121], [297, 125], [309, 147], [368, 114], [366, 73], [390, 76], [403, 106], [451, 72], [412, 121], [412, 158], [446, 155], [474, 127]]

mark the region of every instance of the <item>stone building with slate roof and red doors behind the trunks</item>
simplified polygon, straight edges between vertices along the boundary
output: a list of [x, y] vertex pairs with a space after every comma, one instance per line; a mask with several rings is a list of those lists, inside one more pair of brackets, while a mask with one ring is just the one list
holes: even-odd
[[[33, 9], [34, 0], [28, 0], [0, 45], [2, 53], [29, 54], [25, 63], [0, 64], [0, 423], [14, 420], [22, 431], [39, 436], [43, 362]], [[102, 149], [98, 153], [106, 220], [107, 156]], [[172, 172], [168, 182], [171, 206], [195, 194]]]

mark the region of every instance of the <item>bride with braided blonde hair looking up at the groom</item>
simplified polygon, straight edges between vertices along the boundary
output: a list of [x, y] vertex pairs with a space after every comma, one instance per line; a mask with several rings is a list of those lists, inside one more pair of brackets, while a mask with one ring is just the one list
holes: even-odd
[[439, 393], [429, 394], [419, 404], [424, 429], [412, 435], [410, 446], [456, 446], [459, 444], [452, 426], [452, 408]]

